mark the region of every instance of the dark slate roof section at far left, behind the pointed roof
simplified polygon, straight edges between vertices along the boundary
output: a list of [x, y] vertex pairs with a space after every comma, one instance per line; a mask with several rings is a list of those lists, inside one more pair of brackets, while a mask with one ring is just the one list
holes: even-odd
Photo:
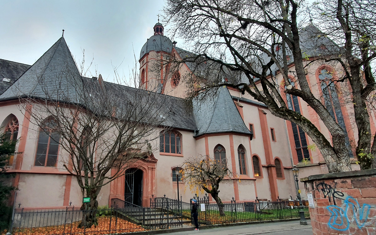
[[[0, 94], [5, 92], [28, 68], [30, 65], [0, 59]], [[3, 78], [8, 78], [10, 81], [3, 81]]]

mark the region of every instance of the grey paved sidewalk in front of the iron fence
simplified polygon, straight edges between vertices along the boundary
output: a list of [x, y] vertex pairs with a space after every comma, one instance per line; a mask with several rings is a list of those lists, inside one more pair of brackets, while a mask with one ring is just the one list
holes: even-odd
[[200, 231], [182, 231], [168, 233], [168, 235], [258, 235], [258, 234], [273, 234], [273, 235], [312, 235], [311, 221], [308, 220], [308, 225], [300, 225], [299, 220], [277, 222], [277, 223], [261, 223], [261, 224], [247, 224], [240, 226], [216, 227], [212, 229], [201, 229]]

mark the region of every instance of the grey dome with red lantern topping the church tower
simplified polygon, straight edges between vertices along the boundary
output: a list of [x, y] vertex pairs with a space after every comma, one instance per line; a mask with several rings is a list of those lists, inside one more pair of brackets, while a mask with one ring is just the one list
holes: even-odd
[[141, 49], [140, 59], [150, 51], [164, 51], [171, 53], [173, 44], [172, 41], [163, 35], [164, 27], [161, 23], [155, 24], [154, 35], [147, 39], [147, 42]]

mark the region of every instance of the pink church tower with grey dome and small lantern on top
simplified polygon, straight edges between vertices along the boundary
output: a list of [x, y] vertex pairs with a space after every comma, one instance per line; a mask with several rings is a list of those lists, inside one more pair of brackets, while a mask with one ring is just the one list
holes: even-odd
[[[166, 75], [165, 65], [161, 60], [170, 55], [174, 44], [163, 35], [164, 27], [161, 23], [155, 24], [154, 35], [147, 39], [147, 42], [140, 52], [140, 84], [139, 87], [146, 90], [161, 92], [160, 84]], [[165, 74], [164, 74], [165, 73]]]

